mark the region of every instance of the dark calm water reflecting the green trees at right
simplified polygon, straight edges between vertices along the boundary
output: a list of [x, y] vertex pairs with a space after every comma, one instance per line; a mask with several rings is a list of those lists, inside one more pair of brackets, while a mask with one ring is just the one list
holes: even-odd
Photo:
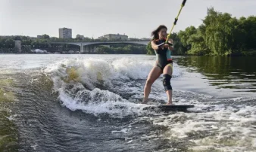
[[200, 72], [218, 89], [256, 93], [255, 57], [189, 56], [178, 58], [177, 64]]

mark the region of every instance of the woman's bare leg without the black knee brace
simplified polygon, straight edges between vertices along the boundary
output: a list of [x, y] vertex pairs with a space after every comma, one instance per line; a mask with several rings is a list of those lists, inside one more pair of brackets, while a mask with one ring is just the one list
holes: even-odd
[[158, 66], [155, 66], [151, 69], [150, 73], [148, 74], [148, 79], [145, 83], [144, 87], [144, 99], [142, 101], [143, 104], [146, 104], [148, 102], [148, 96], [151, 91], [151, 85], [159, 78], [161, 75], [162, 70]]

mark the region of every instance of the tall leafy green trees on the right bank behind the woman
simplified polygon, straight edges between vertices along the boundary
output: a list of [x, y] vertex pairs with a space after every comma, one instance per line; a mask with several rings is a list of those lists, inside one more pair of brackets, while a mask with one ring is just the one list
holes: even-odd
[[[256, 17], [232, 17], [208, 8], [198, 28], [189, 26], [171, 35], [173, 54], [211, 56], [256, 56]], [[148, 54], [154, 54], [151, 44]]]

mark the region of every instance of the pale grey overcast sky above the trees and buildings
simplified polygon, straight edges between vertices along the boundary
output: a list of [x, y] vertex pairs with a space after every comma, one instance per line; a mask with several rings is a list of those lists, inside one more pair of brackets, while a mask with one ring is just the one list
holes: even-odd
[[[164, 24], [170, 31], [183, 0], [0, 0], [0, 35], [47, 34], [58, 37], [58, 29], [98, 38], [125, 34], [129, 38], [151, 38], [151, 31]], [[207, 8], [233, 17], [256, 15], [255, 0], [187, 0], [173, 32], [198, 27]]]

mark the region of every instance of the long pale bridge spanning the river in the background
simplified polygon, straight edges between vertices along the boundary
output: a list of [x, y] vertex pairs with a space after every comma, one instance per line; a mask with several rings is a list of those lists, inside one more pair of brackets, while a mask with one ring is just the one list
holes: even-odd
[[49, 44], [72, 44], [80, 46], [80, 52], [95, 52], [97, 45], [108, 45], [108, 44], [142, 44], [148, 45], [148, 40], [139, 41], [88, 41], [88, 42], [50, 42]]

